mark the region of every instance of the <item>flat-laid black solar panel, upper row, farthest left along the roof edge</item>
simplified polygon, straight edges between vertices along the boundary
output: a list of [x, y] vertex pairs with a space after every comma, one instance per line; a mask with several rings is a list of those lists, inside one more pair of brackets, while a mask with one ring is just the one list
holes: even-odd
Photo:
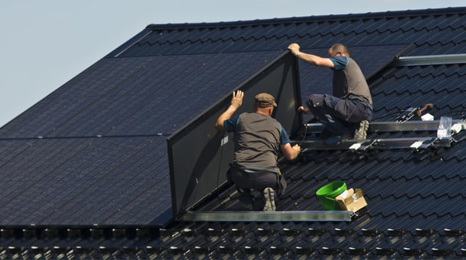
[[[0, 129], [2, 137], [57, 136], [55, 131], [100, 101], [154, 57], [102, 59]], [[81, 126], [85, 122], [79, 122]], [[80, 133], [59, 133], [74, 136]], [[98, 133], [101, 134], [101, 133]]]

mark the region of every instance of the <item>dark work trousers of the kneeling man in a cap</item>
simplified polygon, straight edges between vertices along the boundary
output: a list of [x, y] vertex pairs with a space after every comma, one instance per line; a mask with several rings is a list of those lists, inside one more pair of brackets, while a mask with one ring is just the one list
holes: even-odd
[[275, 172], [257, 172], [230, 167], [227, 178], [237, 185], [239, 200], [243, 203], [252, 201], [249, 189], [262, 192], [263, 189], [272, 188], [277, 196], [281, 196], [286, 189], [285, 179]]

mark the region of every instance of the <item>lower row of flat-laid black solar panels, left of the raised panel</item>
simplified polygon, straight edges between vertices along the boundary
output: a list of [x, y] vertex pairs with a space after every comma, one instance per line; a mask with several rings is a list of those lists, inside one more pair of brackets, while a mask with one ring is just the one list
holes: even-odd
[[[2, 189], [0, 203], [5, 209], [23, 206], [11, 211], [1, 223], [92, 225], [149, 205], [157, 213], [171, 207], [169, 199], [165, 203], [159, 199], [166, 198], [170, 185], [168, 163], [161, 156], [166, 152], [162, 136], [40, 138], [4, 143], [10, 146], [8, 152], [15, 148], [16, 155], [3, 165], [10, 170], [3, 178], [8, 185]], [[149, 202], [138, 201], [140, 197]], [[120, 221], [150, 223], [155, 215]]]

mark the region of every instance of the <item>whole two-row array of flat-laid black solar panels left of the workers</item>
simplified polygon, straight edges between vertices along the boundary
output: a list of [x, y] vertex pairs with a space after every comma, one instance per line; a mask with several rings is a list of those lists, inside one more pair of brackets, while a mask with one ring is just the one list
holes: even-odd
[[166, 138], [278, 54], [96, 62], [1, 128], [0, 224], [153, 223], [171, 208]]

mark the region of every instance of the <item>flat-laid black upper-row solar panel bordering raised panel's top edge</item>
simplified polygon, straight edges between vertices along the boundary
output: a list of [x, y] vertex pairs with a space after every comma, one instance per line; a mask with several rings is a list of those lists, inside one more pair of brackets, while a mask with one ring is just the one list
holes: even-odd
[[[172, 134], [265, 66], [274, 54], [276, 52], [185, 57], [187, 67], [197, 64], [195, 71], [184, 74], [186, 76], [178, 81], [168, 82], [169, 88], [115, 126], [109, 134]], [[168, 78], [173, 78], [179, 71], [184, 71], [183, 67], [165, 73], [169, 73]]]

